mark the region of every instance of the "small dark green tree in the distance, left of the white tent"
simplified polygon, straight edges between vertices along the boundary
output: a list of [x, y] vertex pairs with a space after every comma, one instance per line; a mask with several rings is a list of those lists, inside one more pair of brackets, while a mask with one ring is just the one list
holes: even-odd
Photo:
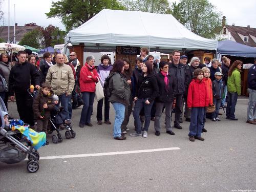
[[27, 45], [36, 49], [41, 48], [41, 28], [36, 28], [24, 35], [24, 37], [19, 41], [19, 45]]

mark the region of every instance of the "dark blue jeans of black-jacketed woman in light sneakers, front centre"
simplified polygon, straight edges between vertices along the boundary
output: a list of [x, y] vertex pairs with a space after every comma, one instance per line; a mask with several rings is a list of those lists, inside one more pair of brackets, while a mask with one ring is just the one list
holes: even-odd
[[135, 130], [137, 134], [141, 134], [141, 122], [140, 122], [140, 111], [144, 108], [144, 115], [145, 115], [145, 123], [143, 131], [148, 131], [148, 127], [150, 126], [150, 118], [151, 118], [151, 108], [154, 102], [150, 104], [145, 103], [145, 99], [137, 99], [134, 110], [133, 110], [133, 117], [135, 122]]

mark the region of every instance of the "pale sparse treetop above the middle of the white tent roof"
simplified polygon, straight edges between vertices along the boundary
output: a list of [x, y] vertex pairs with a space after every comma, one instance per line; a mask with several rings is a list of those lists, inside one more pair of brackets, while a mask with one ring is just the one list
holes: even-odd
[[169, 2], [167, 0], [123, 0], [123, 6], [129, 11], [143, 11], [150, 13], [169, 13]]

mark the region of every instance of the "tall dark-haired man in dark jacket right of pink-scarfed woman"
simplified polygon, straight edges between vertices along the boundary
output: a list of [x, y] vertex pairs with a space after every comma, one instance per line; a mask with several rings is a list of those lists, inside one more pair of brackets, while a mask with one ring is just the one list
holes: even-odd
[[177, 81], [177, 90], [176, 90], [176, 105], [175, 105], [175, 121], [174, 127], [177, 129], [182, 129], [180, 125], [180, 116], [182, 115], [182, 100], [183, 94], [187, 90], [188, 87], [188, 74], [186, 72], [186, 68], [183, 64], [179, 62], [180, 60], [180, 52], [178, 50], [173, 51], [173, 62], [169, 63], [169, 71], [168, 73], [172, 78]]

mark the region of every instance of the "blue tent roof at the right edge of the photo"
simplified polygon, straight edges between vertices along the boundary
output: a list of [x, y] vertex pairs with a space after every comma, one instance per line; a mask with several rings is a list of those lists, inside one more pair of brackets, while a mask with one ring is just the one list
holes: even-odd
[[219, 41], [217, 52], [222, 55], [256, 57], [256, 48], [242, 45], [232, 40]]

